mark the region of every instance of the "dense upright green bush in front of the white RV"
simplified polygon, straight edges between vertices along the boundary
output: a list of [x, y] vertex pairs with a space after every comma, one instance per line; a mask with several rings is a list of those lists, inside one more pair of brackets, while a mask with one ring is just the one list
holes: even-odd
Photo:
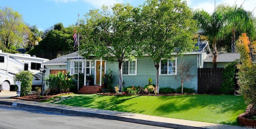
[[32, 90], [32, 81], [33, 81], [33, 74], [30, 71], [21, 71], [18, 72], [14, 78], [14, 82], [20, 81], [21, 88], [20, 88], [20, 96], [26, 96], [30, 94]]

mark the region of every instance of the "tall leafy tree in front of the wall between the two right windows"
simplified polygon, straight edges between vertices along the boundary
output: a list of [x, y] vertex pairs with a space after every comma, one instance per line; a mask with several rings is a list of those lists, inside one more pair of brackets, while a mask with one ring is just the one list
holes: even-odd
[[159, 91], [159, 66], [162, 59], [172, 59], [172, 53], [182, 55], [192, 51], [192, 37], [196, 22], [185, 1], [147, 0], [138, 17], [137, 37], [141, 39], [143, 51], [154, 61], [156, 89]]

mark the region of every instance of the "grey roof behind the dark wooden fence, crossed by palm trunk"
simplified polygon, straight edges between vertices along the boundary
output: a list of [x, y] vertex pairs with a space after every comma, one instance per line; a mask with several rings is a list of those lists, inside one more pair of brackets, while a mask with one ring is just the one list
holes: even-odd
[[[219, 53], [217, 56], [217, 62], [232, 62], [236, 59], [240, 59], [240, 53]], [[206, 56], [204, 62], [212, 62], [211, 53]]]

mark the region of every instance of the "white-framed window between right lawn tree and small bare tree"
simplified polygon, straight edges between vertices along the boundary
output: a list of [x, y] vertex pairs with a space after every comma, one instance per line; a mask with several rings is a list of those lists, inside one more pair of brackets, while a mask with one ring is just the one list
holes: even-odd
[[168, 61], [160, 61], [160, 74], [177, 74], [177, 58]]

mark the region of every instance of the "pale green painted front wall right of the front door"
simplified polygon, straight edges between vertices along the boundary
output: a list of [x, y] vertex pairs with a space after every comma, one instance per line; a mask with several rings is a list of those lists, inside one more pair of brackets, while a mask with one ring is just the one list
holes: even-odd
[[[184, 55], [183, 57], [178, 57], [177, 59], [177, 68], [180, 64], [181, 59], [185, 59], [187, 62], [192, 61], [193, 68], [191, 75], [193, 78], [189, 82], [184, 82], [184, 87], [195, 88], [197, 90], [197, 65], [198, 65], [198, 55]], [[118, 63], [109, 63], [107, 62], [107, 69], [111, 68], [112, 76], [115, 76], [113, 85], [118, 85]], [[179, 73], [177, 73], [178, 75]], [[161, 75], [160, 78], [160, 87], [170, 86], [172, 88], [177, 88], [180, 86], [175, 78], [175, 75]], [[148, 78], [152, 78], [153, 84], [156, 82], [156, 68], [154, 67], [154, 62], [150, 57], [139, 57], [137, 60], [137, 75], [123, 75], [124, 86], [145, 86], [148, 84]]]

